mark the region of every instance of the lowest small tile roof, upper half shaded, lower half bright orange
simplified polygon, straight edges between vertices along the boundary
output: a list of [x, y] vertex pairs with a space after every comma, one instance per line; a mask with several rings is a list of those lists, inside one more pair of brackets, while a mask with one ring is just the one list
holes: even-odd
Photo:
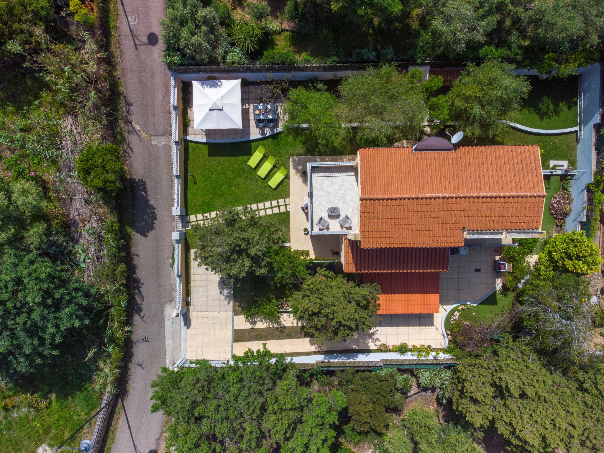
[[369, 272], [363, 283], [377, 283], [382, 289], [378, 314], [438, 313], [439, 272]]

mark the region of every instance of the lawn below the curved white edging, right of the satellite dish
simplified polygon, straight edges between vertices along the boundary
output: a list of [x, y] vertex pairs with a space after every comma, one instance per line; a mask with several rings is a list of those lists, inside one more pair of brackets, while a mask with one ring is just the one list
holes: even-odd
[[549, 169], [549, 161], [568, 161], [568, 165], [577, 167], [577, 134], [532, 135], [510, 129], [503, 138], [505, 145], [539, 145], [541, 149], [541, 167]]

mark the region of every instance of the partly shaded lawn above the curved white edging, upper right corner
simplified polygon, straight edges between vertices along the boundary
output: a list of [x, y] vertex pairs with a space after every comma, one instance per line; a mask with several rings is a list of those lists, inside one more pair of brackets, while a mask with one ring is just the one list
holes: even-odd
[[536, 129], [565, 129], [577, 126], [579, 77], [544, 79], [528, 77], [531, 91], [514, 118], [522, 126]]

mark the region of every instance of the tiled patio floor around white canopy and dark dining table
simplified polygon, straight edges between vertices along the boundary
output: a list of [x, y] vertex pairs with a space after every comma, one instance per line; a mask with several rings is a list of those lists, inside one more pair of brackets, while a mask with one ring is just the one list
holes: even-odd
[[243, 129], [194, 129], [193, 117], [193, 87], [191, 86], [191, 103], [188, 106], [188, 116], [190, 126], [186, 135], [191, 138], [207, 139], [225, 139], [225, 138], [246, 138], [254, 135], [268, 135], [275, 129], [281, 127], [281, 104], [277, 104], [278, 121], [275, 121], [275, 127], [256, 127], [254, 115], [252, 114], [253, 104], [259, 97], [268, 97], [268, 91], [260, 85], [247, 85], [241, 87], [241, 120]]

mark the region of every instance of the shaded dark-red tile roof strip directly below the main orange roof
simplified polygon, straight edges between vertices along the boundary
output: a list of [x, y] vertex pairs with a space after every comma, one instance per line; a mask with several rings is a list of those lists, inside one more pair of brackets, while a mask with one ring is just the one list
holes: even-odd
[[426, 272], [449, 269], [449, 248], [360, 248], [344, 240], [344, 272]]

